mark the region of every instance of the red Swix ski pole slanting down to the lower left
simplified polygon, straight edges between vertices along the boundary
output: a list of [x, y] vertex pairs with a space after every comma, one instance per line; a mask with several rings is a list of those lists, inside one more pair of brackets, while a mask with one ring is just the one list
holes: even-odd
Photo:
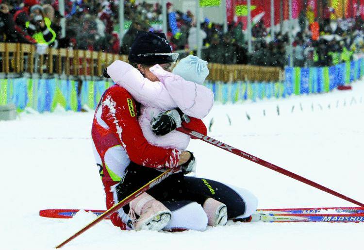
[[77, 233], [74, 233], [72, 236], [70, 236], [69, 238], [67, 238], [61, 244], [57, 245], [55, 248], [62, 248], [64, 245], [66, 245], [68, 242], [70, 242], [71, 240], [73, 240], [74, 238], [76, 238], [77, 236], [79, 236], [81, 233], [83, 233], [86, 230], [92, 228], [97, 223], [99, 223], [100, 221], [102, 221], [106, 217], [109, 217], [111, 214], [115, 213], [117, 210], [119, 210], [120, 208], [122, 208], [123, 206], [125, 206], [126, 204], [128, 204], [129, 202], [131, 202], [132, 200], [134, 200], [134, 198], [138, 197], [142, 193], [146, 192], [148, 189], [150, 189], [153, 186], [155, 186], [156, 184], [162, 182], [165, 178], [167, 178], [168, 176], [170, 176], [171, 174], [173, 174], [173, 173], [175, 173], [175, 172], [177, 172], [179, 170], [180, 170], [180, 167], [175, 167], [175, 168], [169, 168], [169, 169], [167, 169], [166, 171], [164, 171], [163, 173], [161, 173], [160, 175], [158, 175], [156, 178], [154, 178], [153, 180], [151, 180], [149, 183], [145, 184], [144, 186], [142, 186], [141, 188], [139, 188], [138, 190], [136, 190], [134, 193], [132, 193], [131, 195], [129, 195], [128, 197], [126, 197], [124, 200], [120, 200], [119, 203], [117, 203], [116, 205], [114, 205], [110, 209], [106, 210], [105, 213], [103, 213], [102, 215], [100, 215], [99, 217], [97, 217], [95, 220], [93, 220], [88, 225], [86, 225], [85, 227], [83, 227]]

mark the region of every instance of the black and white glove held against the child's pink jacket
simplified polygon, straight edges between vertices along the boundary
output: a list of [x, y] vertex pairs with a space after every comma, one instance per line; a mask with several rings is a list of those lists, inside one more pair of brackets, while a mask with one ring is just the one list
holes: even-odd
[[177, 109], [172, 109], [160, 113], [157, 117], [153, 117], [150, 125], [153, 133], [156, 135], [165, 135], [176, 128], [182, 127], [182, 121], [189, 122], [189, 118]]

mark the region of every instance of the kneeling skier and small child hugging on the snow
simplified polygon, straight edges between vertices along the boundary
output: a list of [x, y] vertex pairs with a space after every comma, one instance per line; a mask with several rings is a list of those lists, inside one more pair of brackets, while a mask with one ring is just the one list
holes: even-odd
[[165, 168], [182, 169], [110, 216], [122, 230], [203, 231], [248, 219], [258, 206], [246, 189], [185, 175], [196, 161], [186, 150], [190, 136], [176, 129], [206, 134], [201, 119], [214, 95], [202, 85], [207, 62], [190, 55], [170, 72], [177, 58], [163, 33], [138, 32], [129, 64], [116, 60], [104, 70], [116, 84], [99, 101], [92, 139], [107, 209]]

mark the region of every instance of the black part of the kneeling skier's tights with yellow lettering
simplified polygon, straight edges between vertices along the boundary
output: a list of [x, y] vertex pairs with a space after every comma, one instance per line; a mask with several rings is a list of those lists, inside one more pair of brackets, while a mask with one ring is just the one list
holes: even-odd
[[[161, 171], [134, 163], [130, 163], [125, 172], [123, 180], [116, 187], [118, 200], [124, 199], [161, 174]], [[209, 179], [184, 176], [183, 173], [169, 176], [149, 189], [147, 193], [156, 200], [162, 201], [167, 207], [170, 204], [169, 201], [182, 201], [183, 203], [184, 201], [196, 201], [202, 205], [207, 198], [211, 197], [227, 206], [229, 218], [245, 213], [244, 200], [231, 187]], [[128, 213], [129, 206], [125, 206], [124, 211]]]

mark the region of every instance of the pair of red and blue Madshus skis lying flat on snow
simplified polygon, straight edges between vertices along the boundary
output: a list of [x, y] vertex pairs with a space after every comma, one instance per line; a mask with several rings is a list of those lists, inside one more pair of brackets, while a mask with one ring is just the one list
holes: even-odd
[[[39, 216], [49, 218], [72, 218], [79, 209], [46, 209]], [[104, 210], [85, 209], [99, 216]], [[327, 213], [325, 213], [327, 212]], [[333, 212], [333, 213], [328, 213]], [[106, 218], [108, 219], [108, 218]], [[364, 222], [362, 207], [321, 207], [321, 208], [283, 208], [258, 209], [245, 221], [262, 222]]]

